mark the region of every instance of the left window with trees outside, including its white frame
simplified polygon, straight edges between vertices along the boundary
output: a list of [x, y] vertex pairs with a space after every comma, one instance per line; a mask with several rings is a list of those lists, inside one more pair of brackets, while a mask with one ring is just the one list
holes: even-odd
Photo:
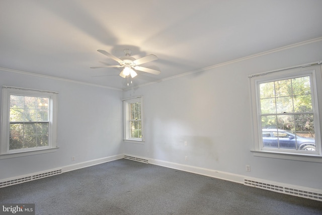
[[3, 86], [0, 158], [57, 147], [57, 93]]

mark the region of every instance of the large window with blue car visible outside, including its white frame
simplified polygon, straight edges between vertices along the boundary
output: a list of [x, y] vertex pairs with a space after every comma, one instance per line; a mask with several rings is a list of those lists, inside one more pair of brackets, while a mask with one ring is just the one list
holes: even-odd
[[254, 152], [321, 156], [320, 66], [251, 77]]

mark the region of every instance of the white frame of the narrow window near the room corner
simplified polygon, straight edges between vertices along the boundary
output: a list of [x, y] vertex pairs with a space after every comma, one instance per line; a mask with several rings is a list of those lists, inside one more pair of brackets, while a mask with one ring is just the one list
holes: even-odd
[[[142, 134], [142, 138], [133, 138], [130, 136], [130, 104], [132, 103], [136, 103], [136, 102], [140, 102], [140, 115], [141, 115], [141, 134]], [[141, 96], [139, 97], [135, 97], [135, 98], [129, 98], [129, 99], [123, 99], [123, 111], [124, 111], [124, 137], [123, 139], [126, 141], [134, 141], [134, 142], [144, 142], [143, 139], [143, 98]]]

